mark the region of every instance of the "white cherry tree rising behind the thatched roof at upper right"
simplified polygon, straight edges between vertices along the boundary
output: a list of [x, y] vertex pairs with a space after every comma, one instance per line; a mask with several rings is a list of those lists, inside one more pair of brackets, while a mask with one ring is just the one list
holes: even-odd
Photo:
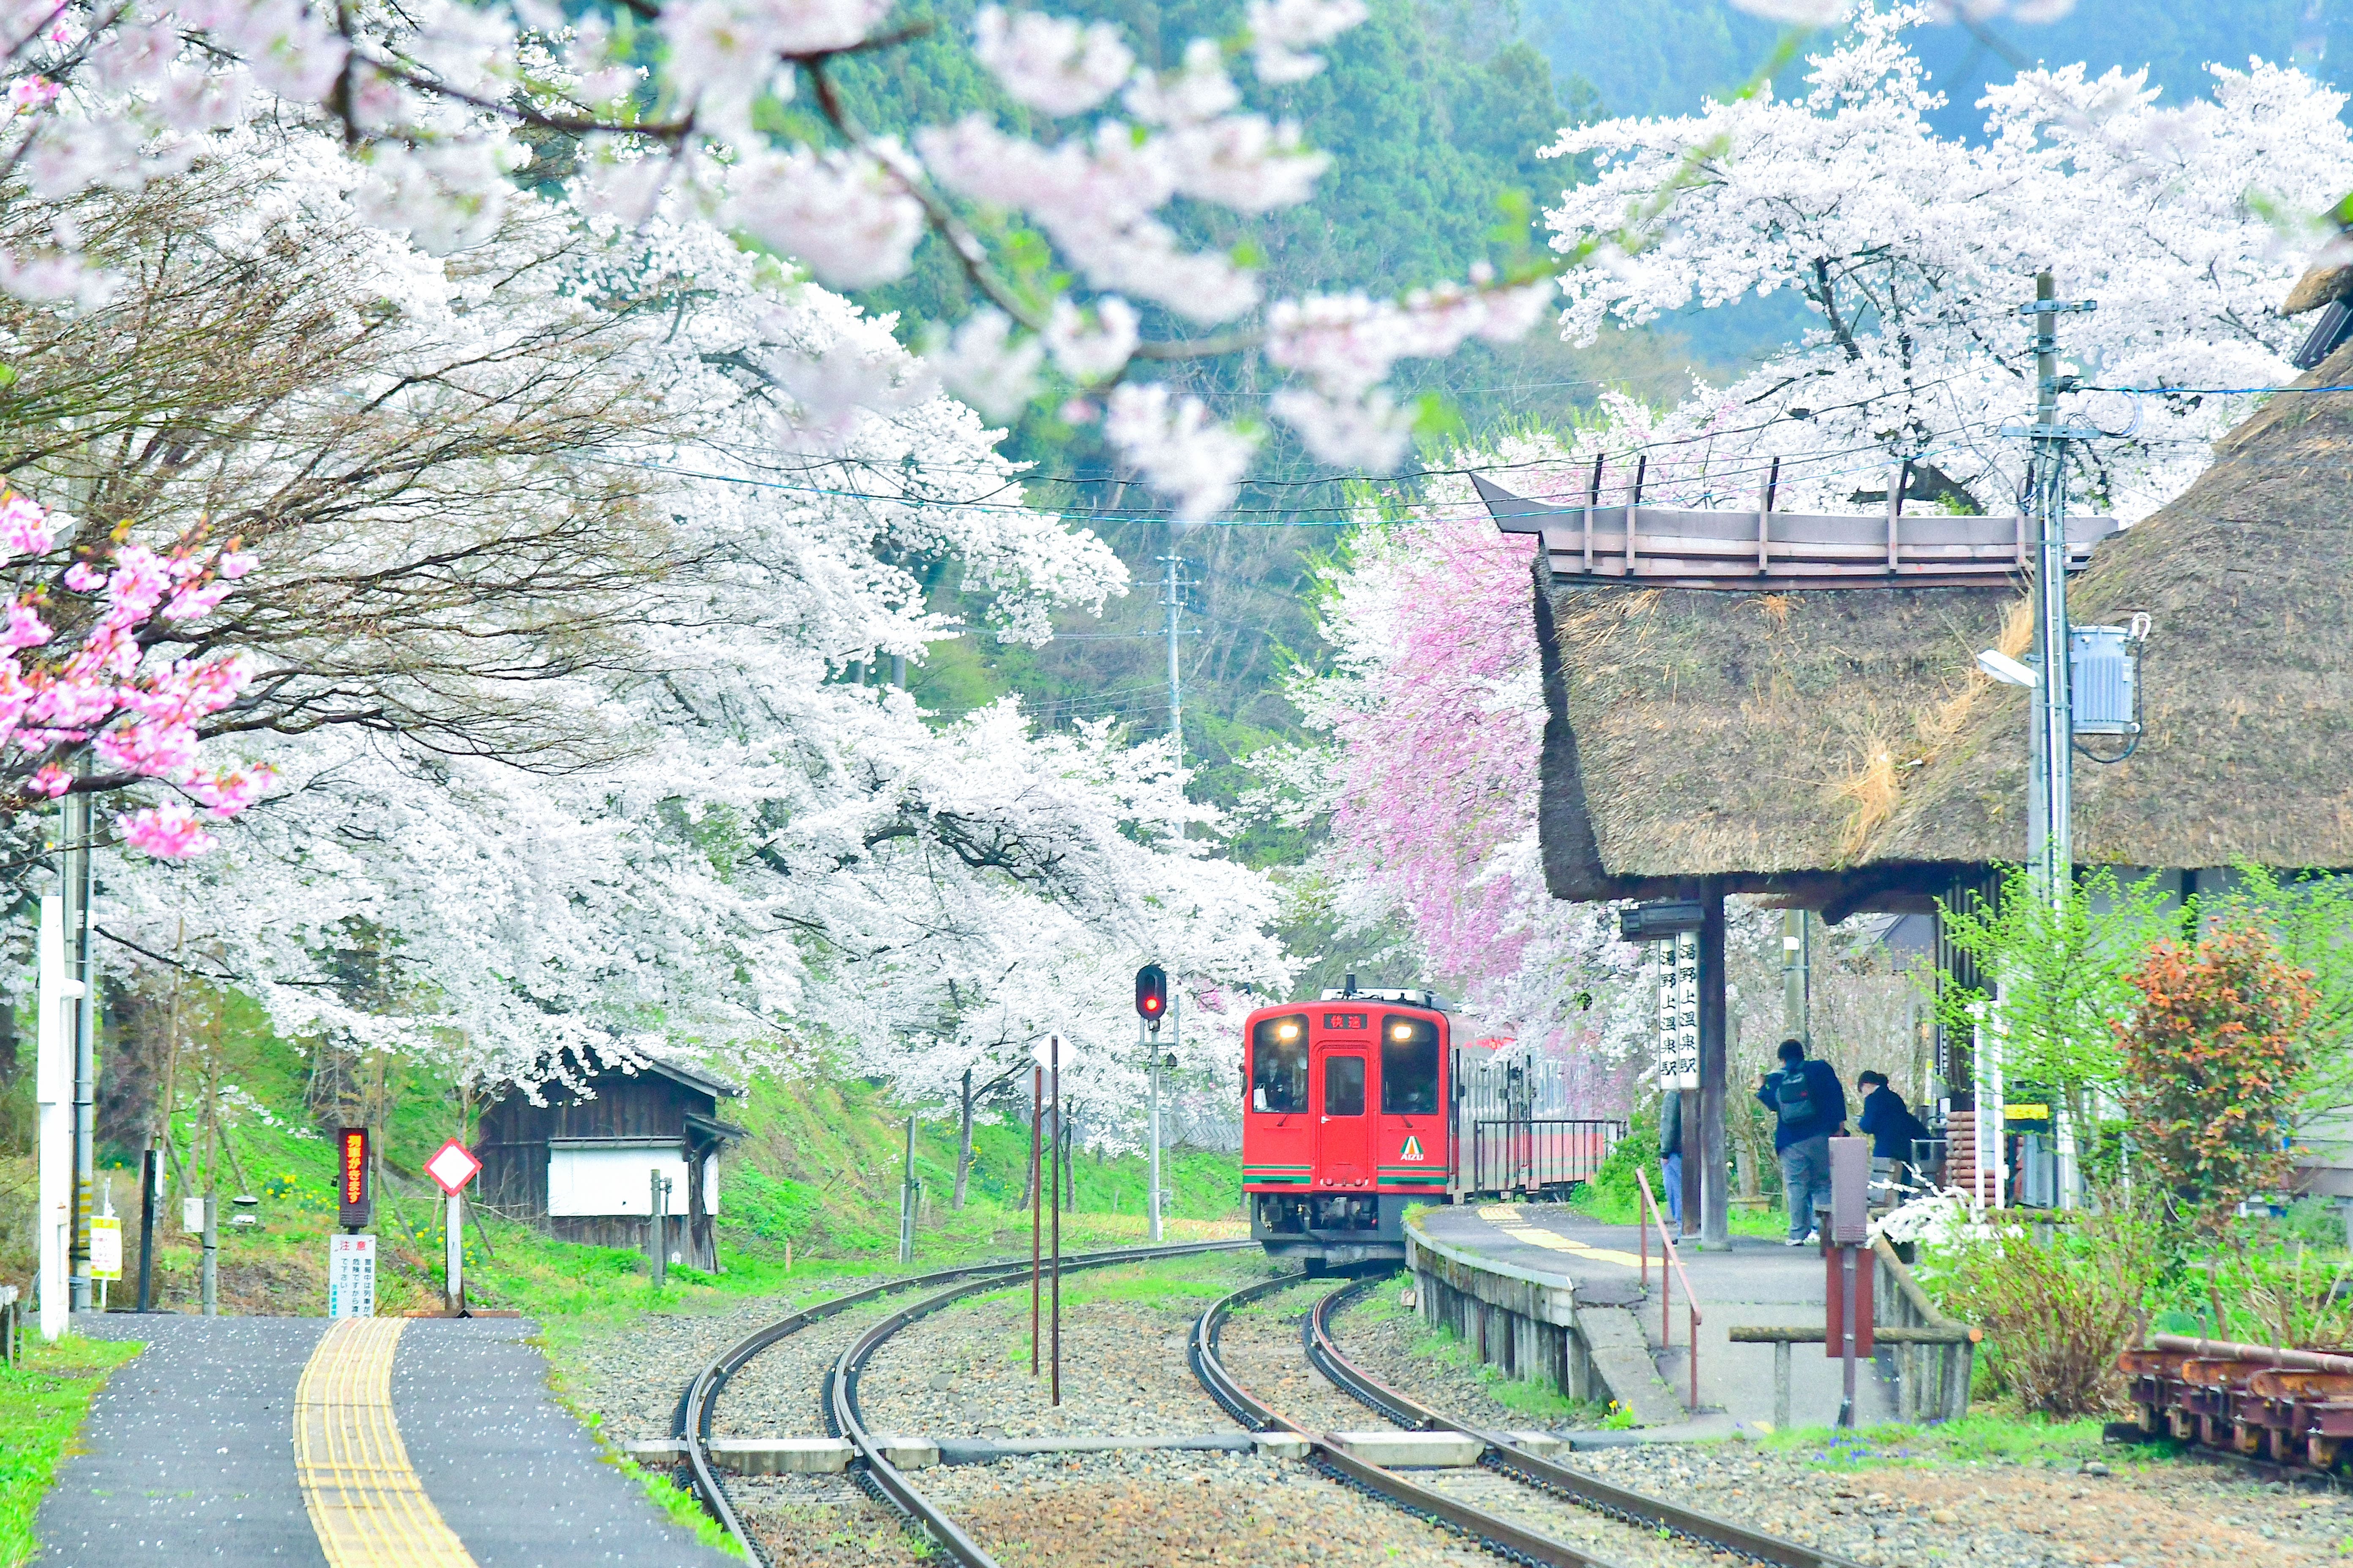
[[[1864, 5], [1809, 59], [1802, 96], [1762, 85], [1551, 148], [1598, 165], [1548, 214], [1558, 249], [1605, 259], [1565, 275], [1567, 336], [1779, 292], [1814, 317], [1732, 386], [1664, 416], [1624, 409], [1586, 442], [1647, 444], [1647, 496], [1753, 503], [1781, 458], [1786, 503], [1835, 510], [1911, 461], [1918, 501], [2012, 510], [2026, 444], [2002, 428], [2033, 404], [2017, 306], [2045, 268], [2099, 303], [2061, 331], [2061, 416], [2104, 430], [2073, 449], [2078, 494], [2104, 510], [2144, 517], [2181, 491], [2249, 409], [2252, 393], [2217, 388], [2294, 378], [2299, 329], [2278, 306], [2329, 237], [2308, 219], [2353, 188], [2346, 94], [2254, 61], [2212, 66], [2212, 94], [2169, 108], [2146, 73], [2035, 68], [1986, 89], [1969, 146], [1927, 122], [1941, 99], [1908, 33], [1932, 19]], [[1581, 496], [1584, 477], [1555, 494]]]

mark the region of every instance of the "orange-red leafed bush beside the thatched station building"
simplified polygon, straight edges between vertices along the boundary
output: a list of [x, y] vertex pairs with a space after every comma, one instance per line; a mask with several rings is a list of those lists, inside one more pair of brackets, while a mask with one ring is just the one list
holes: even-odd
[[2113, 1027], [2134, 1152], [2207, 1232], [2287, 1178], [2311, 980], [2254, 926], [2217, 931], [2195, 947], [2158, 943], [2132, 973], [2139, 1006]]

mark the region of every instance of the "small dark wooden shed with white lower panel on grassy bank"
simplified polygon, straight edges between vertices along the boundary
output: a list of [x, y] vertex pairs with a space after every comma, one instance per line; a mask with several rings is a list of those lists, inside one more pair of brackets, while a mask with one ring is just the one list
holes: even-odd
[[544, 1084], [544, 1105], [508, 1084], [482, 1112], [475, 1197], [565, 1241], [642, 1248], [661, 1173], [671, 1178], [671, 1262], [715, 1269], [718, 1154], [744, 1135], [720, 1121], [720, 1100], [741, 1093], [664, 1058], [602, 1067], [576, 1088]]

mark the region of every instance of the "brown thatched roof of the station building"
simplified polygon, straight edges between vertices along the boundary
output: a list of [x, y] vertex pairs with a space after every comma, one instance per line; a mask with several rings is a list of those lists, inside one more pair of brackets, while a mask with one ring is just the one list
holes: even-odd
[[[2353, 381], [2353, 343], [2304, 386]], [[1699, 592], [1567, 585], [1537, 552], [1546, 879], [1718, 875], [1835, 914], [2026, 856], [2024, 583]], [[2075, 858], [2353, 865], [2353, 395], [2280, 395], [2179, 501], [2104, 541], [2071, 618], [2153, 616], [2139, 750], [2075, 764]], [[2007, 637], [2005, 637], [2007, 630]]]

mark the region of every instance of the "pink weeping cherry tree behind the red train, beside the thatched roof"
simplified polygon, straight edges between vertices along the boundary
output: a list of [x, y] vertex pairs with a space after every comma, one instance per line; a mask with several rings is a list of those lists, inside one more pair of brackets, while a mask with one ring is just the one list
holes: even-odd
[[[1506, 442], [1473, 461], [1555, 451]], [[1544, 886], [1525, 543], [1497, 534], [1468, 480], [1438, 480], [1405, 517], [1360, 524], [1327, 588], [1332, 668], [1292, 684], [1325, 741], [1266, 771], [1285, 811], [1329, 827], [1313, 875], [1341, 926], [1402, 917], [1428, 973], [1464, 987], [1485, 1027], [1621, 1056], [1654, 1025], [1640, 957], [1609, 907]]]

